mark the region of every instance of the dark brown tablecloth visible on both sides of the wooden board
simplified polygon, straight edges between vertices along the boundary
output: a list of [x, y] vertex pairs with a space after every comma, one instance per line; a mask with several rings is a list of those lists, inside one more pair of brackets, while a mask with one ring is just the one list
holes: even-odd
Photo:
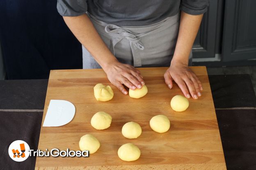
[[[256, 98], [249, 75], [209, 76], [228, 170], [256, 170]], [[35, 157], [13, 161], [15, 140], [37, 150], [48, 80], [0, 81], [0, 169], [34, 169]]]

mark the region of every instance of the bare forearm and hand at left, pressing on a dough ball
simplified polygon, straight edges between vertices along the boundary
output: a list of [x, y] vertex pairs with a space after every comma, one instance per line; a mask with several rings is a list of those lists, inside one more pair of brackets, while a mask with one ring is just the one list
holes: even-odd
[[139, 70], [118, 62], [101, 39], [87, 14], [75, 17], [64, 16], [63, 18], [75, 37], [104, 69], [110, 82], [123, 94], [128, 94], [123, 85], [130, 89], [142, 88], [145, 83]]

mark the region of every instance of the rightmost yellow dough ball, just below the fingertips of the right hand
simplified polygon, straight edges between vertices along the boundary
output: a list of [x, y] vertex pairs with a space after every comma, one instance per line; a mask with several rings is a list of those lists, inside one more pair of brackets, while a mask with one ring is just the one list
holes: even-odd
[[183, 112], [188, 106], [189, 102], [184, 96], [177, 95], [171, 99], [171, 108], [176, 112]]

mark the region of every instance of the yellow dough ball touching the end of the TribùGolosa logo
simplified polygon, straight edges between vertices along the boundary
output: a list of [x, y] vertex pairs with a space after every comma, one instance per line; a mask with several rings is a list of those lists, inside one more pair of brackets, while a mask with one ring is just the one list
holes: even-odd
[[96, 152], [100, 148], [100, 145], [98, 139], [91, 134], [82, 136], [79, 141], [80, 150], [89, 150], [89, 154]]

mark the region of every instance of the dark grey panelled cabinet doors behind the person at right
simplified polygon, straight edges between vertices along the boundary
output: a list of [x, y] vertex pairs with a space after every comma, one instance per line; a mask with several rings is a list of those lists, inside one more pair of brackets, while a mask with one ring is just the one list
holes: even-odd
[[193, 47], [193, 58], [201, 62], [194, 64], [255, 65], [255, 7], [255, 0], [210, 0]]

